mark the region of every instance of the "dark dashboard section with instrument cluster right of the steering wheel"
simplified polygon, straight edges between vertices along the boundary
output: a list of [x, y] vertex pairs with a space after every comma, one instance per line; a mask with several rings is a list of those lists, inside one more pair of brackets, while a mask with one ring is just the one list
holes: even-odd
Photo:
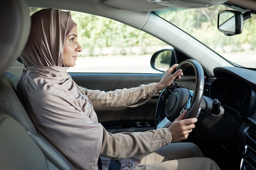
[[238, 67], [214, 69], [216, 79], [210, 97], [218, 99], [225, 111], [246, 118], [256, 110], [256, 71]]

